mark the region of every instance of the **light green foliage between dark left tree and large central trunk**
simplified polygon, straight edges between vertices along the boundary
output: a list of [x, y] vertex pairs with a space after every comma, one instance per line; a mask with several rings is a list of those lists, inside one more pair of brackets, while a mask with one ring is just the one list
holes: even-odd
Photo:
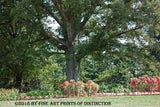
[[[65, 71], [62, 66], [64, 57], [54, 55], [48, 58], [47, 65], [34, 74], [39, 80], [39, 86], [42, 90], [59, 90], [59, 83], [65, 81]], [[33, 75], [32, 75], [33, 76]], [[37, 84], [38, 85], [38, 84]]]

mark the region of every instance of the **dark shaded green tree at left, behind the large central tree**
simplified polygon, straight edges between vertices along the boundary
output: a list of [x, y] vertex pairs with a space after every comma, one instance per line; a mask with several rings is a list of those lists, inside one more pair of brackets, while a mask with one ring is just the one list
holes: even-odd
[[[11, 13], [17, 2], [19, 1], [1, 1], [0, 78], [2, 81], [0, 87], [21, 89], [24, 73], [45, 65], [44, 59], [50, 56], [51, 51], [47, 50], [48, 44], [45, 42], [49, 38], [40, 36], [42, 33], [40, 28], [36, 27], [37, 22], [34, 21], [36, 19], [13, 18], [14, 15]], [[32, 27], [35, 28], [34, 31]], [[8, 82], [10, 80], [12, 84]]]

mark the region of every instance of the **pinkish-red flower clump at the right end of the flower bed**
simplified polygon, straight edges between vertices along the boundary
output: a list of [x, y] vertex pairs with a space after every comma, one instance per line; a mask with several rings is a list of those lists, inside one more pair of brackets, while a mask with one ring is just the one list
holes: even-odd
[[141, 92], [160, 92], [160, 78], [159, 77], [141, 77], [140, 79], [132, 79], [133, 91]]

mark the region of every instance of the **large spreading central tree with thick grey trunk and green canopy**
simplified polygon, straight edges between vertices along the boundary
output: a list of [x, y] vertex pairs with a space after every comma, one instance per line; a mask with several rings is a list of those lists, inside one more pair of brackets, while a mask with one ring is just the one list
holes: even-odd
[[[148, 42], [159, 23], [158, 0], [21, 0], [16, 18], [36, 18], [45, 36], [66, 56], [67, 80], [81, 80], [80, 62], [86, 55], [117, 48], [119, 39]], [[16, 14], [16, 12], [18, 14]], [[59, 24], [48, 30], [45, 19]], [[34, 29], [33, 29], [34, 30]]]

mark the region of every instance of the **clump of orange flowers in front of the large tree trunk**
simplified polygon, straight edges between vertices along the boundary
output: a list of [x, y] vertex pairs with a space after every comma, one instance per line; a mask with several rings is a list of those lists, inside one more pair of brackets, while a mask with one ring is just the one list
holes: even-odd
[[86, 94], [88, 94], [88, 96], [96, 95], [98, 91], [98, 84], [91, 80], [89, 80], [87, 84], [83, 83], [83, 81], [75, 82], [75, 80], [70, 80], [70, 83], [65, 81], [63, 84], [60, 84], [60, 87], [67, 97], [83, 96]]

